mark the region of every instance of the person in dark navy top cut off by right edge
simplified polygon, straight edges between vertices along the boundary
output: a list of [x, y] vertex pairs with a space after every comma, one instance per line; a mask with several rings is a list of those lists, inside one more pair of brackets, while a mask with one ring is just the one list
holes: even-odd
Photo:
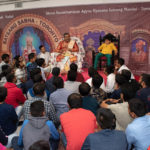
[[139, 98], [147, 104], [148, 111], [150, 111], [150, 75], [143, 74], [140, 80], [141, 89], [137, 91], [136, 98]]

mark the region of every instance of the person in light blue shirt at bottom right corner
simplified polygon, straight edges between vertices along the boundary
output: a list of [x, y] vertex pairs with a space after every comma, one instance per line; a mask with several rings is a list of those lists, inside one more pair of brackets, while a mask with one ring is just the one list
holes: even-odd
[[129, 101], [129, 114], [134, 119], [126, 129], [128, 150], [147, 150], [150, 145], [150, 115], [146, 104], [139, 99]]

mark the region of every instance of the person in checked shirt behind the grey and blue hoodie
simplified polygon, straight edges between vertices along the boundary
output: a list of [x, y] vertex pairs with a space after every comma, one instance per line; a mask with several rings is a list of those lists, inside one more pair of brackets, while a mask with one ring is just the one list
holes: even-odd
[[23, 115], [24, 119], [30, 118], [30, 106], [35, 101], [42, 101], [44, 103], [45, 115], [52, 120], [55, 124], [58, 123], [58, 119], [56, 117], [55, 108], [51, 101], [47, 101], [43, 98], [45, 91], [44, 83], [35, 83], [33, 86], [34, 97], [32, 99], [26, 100], [23, 106]]

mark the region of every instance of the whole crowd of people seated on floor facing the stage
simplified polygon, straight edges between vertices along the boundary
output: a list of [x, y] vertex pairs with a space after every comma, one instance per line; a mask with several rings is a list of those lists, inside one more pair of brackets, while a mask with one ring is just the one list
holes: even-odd
[[85, 81], [72, 63], [64, 81], [40, 56], [1, 56], [0, 150], [57, 150], [60, 142], [66, 150], [148, 150], [149, 74], [137, 81], [117, 58], [106, 80], [91, 66]]

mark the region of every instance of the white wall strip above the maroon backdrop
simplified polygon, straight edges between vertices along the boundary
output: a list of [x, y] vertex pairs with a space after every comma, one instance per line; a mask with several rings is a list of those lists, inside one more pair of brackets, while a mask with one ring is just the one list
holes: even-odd
[[107, 4], [107, 3], [134, 3], [134, 2], [150, 2], [150, 0], [42, 0], [39, 2], [23, 3], [23, 7], [17, 9], [15, 8], [14, 4], [0, 5], [0, 11], [44, 8], [44, 7], [58, 7], [58, 6]]

